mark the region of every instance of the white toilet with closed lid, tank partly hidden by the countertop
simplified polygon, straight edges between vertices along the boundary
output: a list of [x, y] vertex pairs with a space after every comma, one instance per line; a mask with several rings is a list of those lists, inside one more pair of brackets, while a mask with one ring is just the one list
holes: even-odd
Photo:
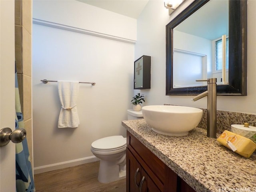
[[[142, 112], [127, 110], [128, 120], [143, 118]], [[98, 181], [109, 183], [126, 177], [126, 138], [110, 136], [92, 142], [92, 153], [100, 159]]]

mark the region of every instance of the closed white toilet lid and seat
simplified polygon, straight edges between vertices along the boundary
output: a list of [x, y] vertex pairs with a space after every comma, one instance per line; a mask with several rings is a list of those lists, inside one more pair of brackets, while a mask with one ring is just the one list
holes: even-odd
[[126, 139], [123, 136], [110, 136], [92, 142], [92, 148], [96, 150], [116, 150], [126, 146]]

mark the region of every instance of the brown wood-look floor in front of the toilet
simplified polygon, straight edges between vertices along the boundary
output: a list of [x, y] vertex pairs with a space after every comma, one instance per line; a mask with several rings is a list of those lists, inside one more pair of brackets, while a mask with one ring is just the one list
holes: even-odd
[[126, 192], [126, 179], [98, 182], [100, 162], [54, 170], [34, 175], [36, 192]]

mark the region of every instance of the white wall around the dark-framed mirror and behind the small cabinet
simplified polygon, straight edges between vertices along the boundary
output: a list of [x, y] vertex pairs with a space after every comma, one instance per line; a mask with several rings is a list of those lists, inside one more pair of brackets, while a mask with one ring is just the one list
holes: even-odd
[[[162, 1], [152, 0], [138, 18], [135, 58], [145, 54], [151, 56], [151, 89], [141, 90], [146, 96], [146, 105], [176, 104], [206, 108], [207, 98], [191, 102], [192, 96], [166, 96], [166, 42], [165, 26], [192, 0], [187, 0], [171, 16]], [[256, 114], [256, 1], [248, 0], [248, 46], [247, 46], [247, 96], [218, 96], [217, 109]], [[136, 90], [135, 92], [139, 92]]]

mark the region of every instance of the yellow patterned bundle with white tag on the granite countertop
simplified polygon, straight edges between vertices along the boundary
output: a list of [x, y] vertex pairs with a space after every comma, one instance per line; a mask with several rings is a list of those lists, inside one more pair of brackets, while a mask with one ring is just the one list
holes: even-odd
[[228, 130], [225, 130], [217, 141], [246, 158], [249, 158], [256, 150], [256, 144], [252, 140]]

